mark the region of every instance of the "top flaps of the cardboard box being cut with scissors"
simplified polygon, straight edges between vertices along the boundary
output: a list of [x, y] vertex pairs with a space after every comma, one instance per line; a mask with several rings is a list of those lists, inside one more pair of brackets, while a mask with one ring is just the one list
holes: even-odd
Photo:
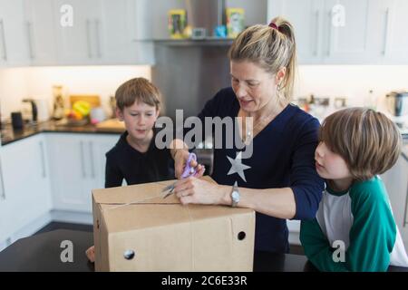
[[[208, 176], [203, 177], [215, 182]], [[94, 189], [93, 200], [102, 211], [109, 232], [122, 232], [146, 227], [162, 227], [208, 218], [220, 218], [243, 212], [248, 208], [180, 204], [174, 194], [163, 198], [161, 192], [176, 180], [145, 183], [112, 189]]]

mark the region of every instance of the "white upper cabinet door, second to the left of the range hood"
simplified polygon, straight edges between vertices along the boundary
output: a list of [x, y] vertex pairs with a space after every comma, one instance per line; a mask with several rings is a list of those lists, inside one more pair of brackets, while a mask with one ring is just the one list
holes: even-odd
[[[54, 25], [59, 63], [67, 65], [100, 63], [101, 50], [98, 45], [97, 24], [101, 15], [100, 2], [97, 0], [54, 1]], [[69, 9], [64, 10], [65, 7]], [[62, 20], [70, 15], [73, 16], [73, 25], [62, 24]]]

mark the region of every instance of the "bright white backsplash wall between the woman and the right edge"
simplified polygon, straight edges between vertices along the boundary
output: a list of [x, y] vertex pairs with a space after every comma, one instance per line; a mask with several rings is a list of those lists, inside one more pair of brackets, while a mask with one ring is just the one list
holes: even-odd
[[407, 75], [406, 65], [301, 65], [294, 94], [345, 96], [348, 105], [363, 106], [373, 90], [377, 109], [386, 112], [385, 95], [396, 90], [408, 91]]

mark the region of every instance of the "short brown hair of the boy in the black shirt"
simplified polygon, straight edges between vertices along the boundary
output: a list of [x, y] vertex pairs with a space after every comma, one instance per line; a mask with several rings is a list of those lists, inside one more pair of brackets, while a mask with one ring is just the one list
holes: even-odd
[[160, 91], [145, 78], [123, 82], [115, 92], [116, 106], [123, 111], [134, 102], [144, 102], [160, 110]]

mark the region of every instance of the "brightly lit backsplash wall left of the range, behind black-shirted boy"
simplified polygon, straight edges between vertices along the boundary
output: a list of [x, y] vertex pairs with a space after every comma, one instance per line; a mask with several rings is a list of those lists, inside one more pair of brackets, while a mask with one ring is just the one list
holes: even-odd
[[0, 105], [2, 120], [11, 111], [20, 111], [26, 97], [53, 103], [52, 87], [62, 84], [69, 94], [99, 94], [102, 105], [109, 111], [109, 96], [116, 88], [134, 77], [151, 80], [150, 66], [59, 66], [28, 67], [0, 70]]

